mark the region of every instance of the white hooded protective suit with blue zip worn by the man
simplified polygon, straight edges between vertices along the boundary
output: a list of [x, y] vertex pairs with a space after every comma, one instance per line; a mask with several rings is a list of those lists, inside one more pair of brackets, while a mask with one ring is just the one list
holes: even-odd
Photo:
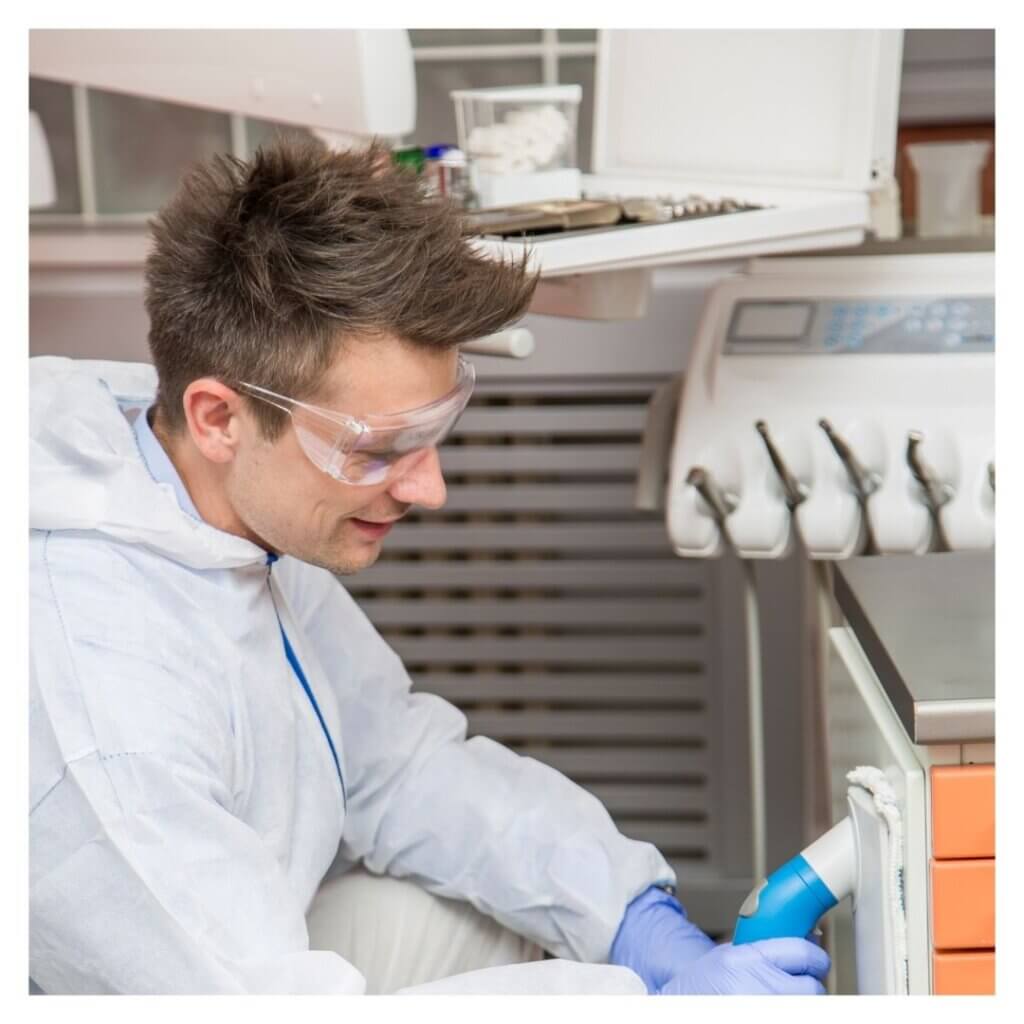
[[[31, 360], [35, 982], [358, 993], [352, 965], [309, 949], [304, 914], [333, 862], [359, 861], [605, 963], [629, 901], [675, 881], [668, 863], [563, 775], [412, 693], [329, 572], [268, 564], [186, 511], [125, 415], [155, 382]], [[550, 990], [550, 962], [507, 970], [542, 969]], [[643, 990], [602, 970], [597, 988]]]

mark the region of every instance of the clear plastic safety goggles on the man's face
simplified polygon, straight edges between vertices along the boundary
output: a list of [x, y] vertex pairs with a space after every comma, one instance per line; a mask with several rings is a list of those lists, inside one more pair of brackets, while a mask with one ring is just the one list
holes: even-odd
[[255, 384], [237, 389], [288, 413], [302, 451], [342, 483], [383, 483], [408, 473], [449, 435], [473, 393], [476, 372], [459, 357], [455, 387], [429, 406], [386, 416], [352, 416], [309, 406]]

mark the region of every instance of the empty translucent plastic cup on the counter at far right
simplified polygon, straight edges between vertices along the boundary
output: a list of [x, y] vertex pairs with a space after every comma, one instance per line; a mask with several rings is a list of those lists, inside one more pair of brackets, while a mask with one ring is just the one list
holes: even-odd
[[918, 172], [918, 237], [981, 233], [981, 171], [990, 142], [915, 142], [906, 155]]

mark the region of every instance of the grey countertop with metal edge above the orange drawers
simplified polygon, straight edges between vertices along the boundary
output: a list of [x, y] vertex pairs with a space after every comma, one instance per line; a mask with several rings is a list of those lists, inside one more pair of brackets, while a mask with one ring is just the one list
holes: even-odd
[[994, 740], [993, 552], [852, 558], [835, 589], [913, 742]]

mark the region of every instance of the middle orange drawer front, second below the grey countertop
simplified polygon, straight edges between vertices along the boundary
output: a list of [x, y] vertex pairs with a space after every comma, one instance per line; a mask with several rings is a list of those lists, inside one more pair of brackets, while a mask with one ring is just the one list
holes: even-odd
[[995, 860], [932, 861], [932, 945], [995, 946]]

